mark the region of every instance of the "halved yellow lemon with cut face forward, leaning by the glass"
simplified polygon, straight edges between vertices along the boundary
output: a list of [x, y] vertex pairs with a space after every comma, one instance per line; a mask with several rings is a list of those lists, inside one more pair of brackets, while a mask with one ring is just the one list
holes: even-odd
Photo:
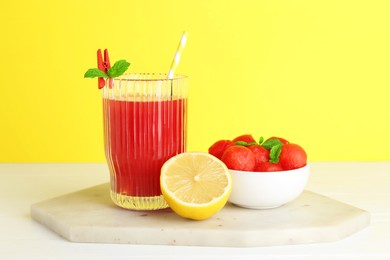
[[184, 152], [164, 163], [161, 192], [173, 211], [195, 220], [221, 210], [232, 191], [232, 178], [218, 158], [202, 152]]

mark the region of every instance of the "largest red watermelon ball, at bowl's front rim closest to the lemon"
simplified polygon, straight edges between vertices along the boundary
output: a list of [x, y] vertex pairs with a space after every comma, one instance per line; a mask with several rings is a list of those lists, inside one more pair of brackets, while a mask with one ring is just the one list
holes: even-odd
[[221, 160], [231, 170], [253, 171], [256, 166], [256, 158], [253, 152], [249, 148], [240, 145], [227, 148]]

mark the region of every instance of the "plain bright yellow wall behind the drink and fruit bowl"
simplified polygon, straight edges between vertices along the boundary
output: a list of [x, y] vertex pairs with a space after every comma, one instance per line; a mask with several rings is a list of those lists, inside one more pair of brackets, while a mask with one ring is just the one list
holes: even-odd
[[188, 150], [252, 133], [310, 161], [390, 160], [390, 1], [6, 1], [1, 162], [102, 162], [96, 50], [190, 76]]

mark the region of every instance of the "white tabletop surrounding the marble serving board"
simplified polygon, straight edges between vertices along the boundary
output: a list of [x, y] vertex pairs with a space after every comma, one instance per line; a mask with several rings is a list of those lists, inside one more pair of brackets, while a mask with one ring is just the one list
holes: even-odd
[[108, 182], [103, 163], [0, 164], [0, 259], [390, 259], [390, 162], [311, 163], [308, 190], [364, 209], [368, 228], [333, 243], [229, 248], [72, 243], [31, 204]]

